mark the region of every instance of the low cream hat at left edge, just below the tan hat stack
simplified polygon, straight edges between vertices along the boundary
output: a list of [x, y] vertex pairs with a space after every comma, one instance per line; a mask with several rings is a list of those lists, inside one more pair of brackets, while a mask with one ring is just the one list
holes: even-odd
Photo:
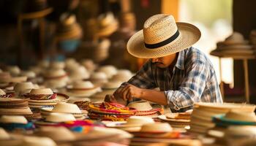
[[28, 123], [28, 120], [21, 115], [2, 115], [0, 118], [0, 123]]

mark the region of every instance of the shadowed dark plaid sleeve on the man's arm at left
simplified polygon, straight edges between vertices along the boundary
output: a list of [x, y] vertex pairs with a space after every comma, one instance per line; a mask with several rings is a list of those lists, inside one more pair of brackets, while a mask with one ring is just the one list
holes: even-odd
[[129, 84], [138, 88], [156, 88], [153, 80], [151, 61], [147, 61], [141, 69], [128, 81]]

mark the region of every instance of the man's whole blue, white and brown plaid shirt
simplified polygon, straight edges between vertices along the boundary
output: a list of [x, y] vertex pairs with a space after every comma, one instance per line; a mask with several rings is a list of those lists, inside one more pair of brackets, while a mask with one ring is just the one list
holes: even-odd
[[222, 102], [211, 61], [193, 47], [178, 53], [172, 70], [169, 67], [160, 69], [149, 60], [128, 82], [139, 88], [165, 91], [167, 104], [173, 112], [192, 109], [199, 101]]

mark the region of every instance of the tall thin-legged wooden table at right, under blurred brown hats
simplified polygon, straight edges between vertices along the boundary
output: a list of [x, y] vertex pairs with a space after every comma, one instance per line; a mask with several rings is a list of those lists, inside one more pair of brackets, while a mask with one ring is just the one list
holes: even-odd
[[244, 65], [244, 90], [245, 90], [245, 99], [246, 102], [249, 103], [249, 75], [248, 75], [248, 60], [249, 59], [255, 59], [256, 55], [255, 54], [248, 54], [248, 55], [234, 55], [234, 54], [230, 54], [228, 55], [227, 53], [225, 53], [225, 55], [223, 55], [222, 53], [214, 53], [214, 51], [212, 51], [210, 53], [211, 55], [217, 56], [219, 58], [219, 74], [220, 74], [220, 91], [222, 93], [222, 99], [224, 100], [224, 84], [222, 82], [222, 64], [221, 64], [221, 58], [233, 58], [234, 60], [242, 60], [243, 61], [243, 65]]

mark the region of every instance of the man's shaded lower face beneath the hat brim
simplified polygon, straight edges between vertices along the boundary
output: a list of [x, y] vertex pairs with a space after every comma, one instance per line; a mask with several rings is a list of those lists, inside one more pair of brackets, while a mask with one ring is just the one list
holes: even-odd
[[173, 64], [173, 61], [176, 61], [176, 54], [177, 53], [174, 53], [160, 58], [151, 58], [151, 62], [157, 67], [163, 69], [170, 66], [170, 64]]

